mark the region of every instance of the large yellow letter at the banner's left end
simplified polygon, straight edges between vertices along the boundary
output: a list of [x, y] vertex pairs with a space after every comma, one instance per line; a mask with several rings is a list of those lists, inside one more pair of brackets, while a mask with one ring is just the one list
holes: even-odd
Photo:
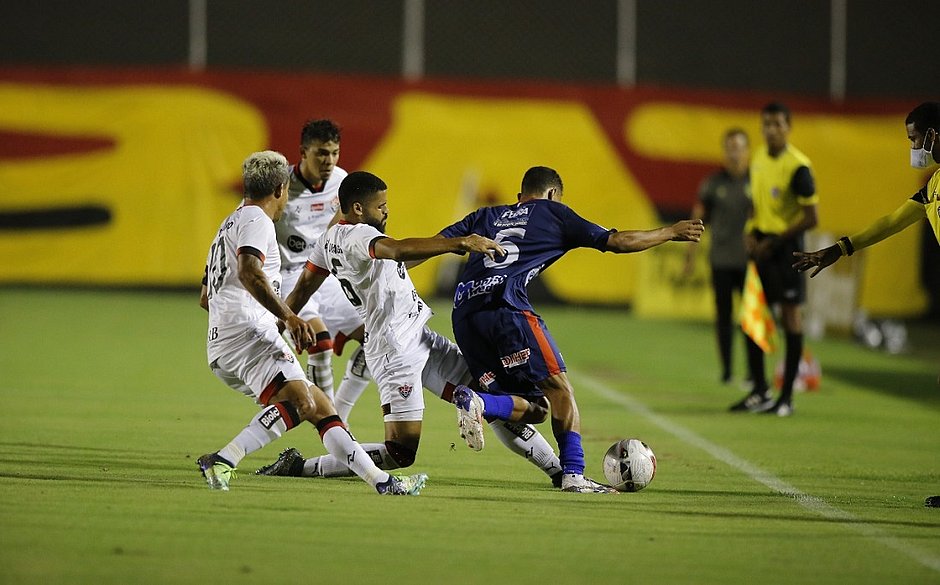
[[219, 222], [239, 202], [265, 121], [192, 87], [0, 83], [0, 128], [104, 138], [87, 153], [0, 161], [0, 210], [94, 204], [105, 225], [0, 231], [0, 281], [198, 285]]

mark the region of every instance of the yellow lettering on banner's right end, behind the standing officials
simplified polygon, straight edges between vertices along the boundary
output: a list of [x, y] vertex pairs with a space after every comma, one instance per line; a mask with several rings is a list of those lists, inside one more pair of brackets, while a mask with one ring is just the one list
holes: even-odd
[[[817, 229], [843, 235], [894, 211], [926, 182], [908, 166], [906, 112], [879, 116], [800, 114], [790, 140], [813, 162], [819, 193]], [[763, 144], [758, 110], [649, 103], [636, 108], [624, 136], [636, 152], [675, 161], [721, 162], [721, 136], [739, 126], [752, 148]], [[907, 229], [863, 251], [859, 305], [870, 314], [921, 314], [928, 299], [920, 283], [920, 230]], [[706, 254], [698, 254], [699, 258]], [[825, 273], [817, 277], [825, 278]], [[643, 296], [644, 292], [639, 291]], [[658, 292], [648, 295], [663, 298]]]

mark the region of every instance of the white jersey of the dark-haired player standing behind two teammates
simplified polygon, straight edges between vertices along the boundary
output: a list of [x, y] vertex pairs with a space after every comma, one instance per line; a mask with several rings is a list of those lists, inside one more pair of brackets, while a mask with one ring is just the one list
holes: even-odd
[[[300, 274], [310, 255], [310, 246], [323, 235], [339, 209], [339, 184], [347, 173], [333, 167], [330, 178], [317, 191], [303, 178], [299, 167], [294, 165], [290, 170], [287, 207], [275, 228], [281, 251], [281, 271]], [[284, 280], [288, 279], [285, 277]], [[284, 291], [285, 295], [289, 293], [289, 289]]]

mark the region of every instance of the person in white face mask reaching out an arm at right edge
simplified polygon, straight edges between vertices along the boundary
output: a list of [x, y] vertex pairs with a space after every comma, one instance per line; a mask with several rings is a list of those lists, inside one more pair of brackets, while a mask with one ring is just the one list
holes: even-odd
[[[904, 120], [907, 139], [911, 141], [911, 166], [927, 169], [940, 163], [940, 102], [924, 102], [911, 110]], [[876, 219], [871, 225], [852, 236], [815, 252], [795, 252], [793, 267], [800, 272], [815, 268], [810, 278], [835, 264], [843, 256], [877, 244], [881, 240], [914, 225], [927, 216], [937, 242], [940, 243], [940, 168], [934, 171], [927, 184], [894, 212]], [[937, 380], [940, 383], [940, 379]], [[930, 496], [924, 502], [930, 508], [940, 508], [940, 496]]]

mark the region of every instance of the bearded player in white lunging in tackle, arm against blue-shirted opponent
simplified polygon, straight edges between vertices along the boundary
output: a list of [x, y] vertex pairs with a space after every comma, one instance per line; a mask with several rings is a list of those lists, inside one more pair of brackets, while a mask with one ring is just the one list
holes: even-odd
[[[343, 219], [331, 227], [310, 253], [306, 270], [287, 298], [302, 307], [332, 274], [365, 323], [365, 355], [379, 386], [385, 420], [385, 442], [363, 444], [382, 469], [410, 466], [417, 455], [424, 414], [422, 386], [450, 401], [454, 390], [471, 381], [456, 344], [425, 324], [431, 310], [415, 290], [406, 261], [446, 254], [504, 254], [496, 242], [470, 234], [460, 238], [409, 238], [385, 235], [388, 193], [375, 175], [351, 173], [339, 188]], [[547, 412], [532, 407], [515, 423], [491, 423], [510, 450], [526, 457], [547, 475], [560, 472], [558, 458], [528, 422], [541, 422]], [[478, 417], [477, 425], [482, 424]], [[479, 432], [482, 448], [482, 428]], [[349, 475], [332, 455], [304, 460], [296, 449], [259, 470], [263, 475], [339, 477]], [[560, 478], [560, 474], [558, 474]], [[553, 478], [554, 480], [554, 478]]]

